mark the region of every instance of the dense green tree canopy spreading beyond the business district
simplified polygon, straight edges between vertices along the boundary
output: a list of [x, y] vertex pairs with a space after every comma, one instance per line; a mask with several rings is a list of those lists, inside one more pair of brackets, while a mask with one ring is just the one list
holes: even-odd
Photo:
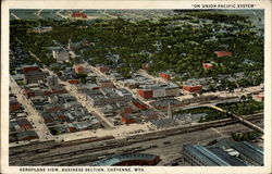
[[[236, 15], [209, 14], [206, 12], [188, 12], [187, 14], [213, 21], [223, 17], [223, 23], [234, 22], [235, 20], [247, 22], [245, 17]], [[187, 24], [174, 25], [176, 20], [181, 17], [184, 16], [174, 16], [172, 20], [164, 18], [159, 22], [140, 21], [135, 23], [123, 18], [97, 20], [91, 23], [83, 21], [54, 22], [52, 20], [39, 22], [12, 21], [11, 38], [17, 37], [22, 40], [24, 47], [37, 57], [42, 58], [41, 63], [47, 65], [54, 63], [54, 60], [48, 55], [47, 47], [55, 46], [55, 42], [66, 46], [69, 39], [73, 42], [87, 39], [95, 45], [82, 50], [76, 49], [76, 52], [82, 54], [82, 59], [88, 60], [92, 64], [103, 63], [115, 64], [116, 66], [116, 63], [106, 55], [118, 54], [120, 57], [118, 65], [121, 66], [119, 72], [123, 75], [128, 74], [128, 72], [133, 73], [146, 62], [151, 64], [149, 70], [151, 74], [170, 70], [177, 74], [187, 73], [187, 78], [263, 69], [263, 38], [252, 34], [247, 25], [233, 23], [233, 28], [230, 28], [226, 34], [214, 34], [212, 28], [218, 27], [220, 29], [221, 27], [218, 24], [205, 25], [200, 28]], [[187, 16], [184, 20], [190, 20], [190, 17]], [[53, 30], [45, 34], [27, 32], [28, 28], [37, 26], [38, 23], [51, 25]], [[82, 29], [78, 28], [78, 25], [89, 27]], [[236, 25], [239, 25], [239, 27]], [[218, 41], [207, 41], [214, 35], [219, 37]], [[232, 58], [215, 57], [214, 51], [224, 49], [223, 44], [228, 45], [228, 50], [233, 52]], [[141, 51], [149, 52], [151, 57], [140, 54]], [[245, 65], [242, 63], [245, 58], [259, 64]], [[218, 66], [205, 71], [202, 69], [203, 62], [215, 62]]]

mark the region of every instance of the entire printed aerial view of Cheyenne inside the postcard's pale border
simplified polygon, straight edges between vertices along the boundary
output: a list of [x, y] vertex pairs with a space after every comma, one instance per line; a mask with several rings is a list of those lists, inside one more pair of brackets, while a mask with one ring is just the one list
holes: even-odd
[[263, 10], [10, 10], [9, 164], [263, 166]]

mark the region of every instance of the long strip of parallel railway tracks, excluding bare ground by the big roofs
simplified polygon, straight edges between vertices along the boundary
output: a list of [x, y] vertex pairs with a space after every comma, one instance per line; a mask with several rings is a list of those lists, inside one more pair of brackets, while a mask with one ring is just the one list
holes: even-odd
[[[263, 119], [263, 115], [261, 114], [249, 115], [247, 117], [247, 120], [250, 121], [258, 121], [261, 119]], [[140, 152], [146, 149], [156, 148], [154, 146], [150, 146], [150, 144], [147, 144], [146, 146], [145, 144], [139, 146], [143, 142], [237, 123], [239, 122], [235, 119], [225, 119], [209, 123], [129, 136], [123, 139], [114, 139], [109, 137], [108, 139], [98, 139], [98, 141], [82, 141], [82, 144], [54, 141], [48, 141], [44, 144], [35, 142], [33, 145], [10, 148], [10, 165], [82, 165], [84, 163], [89, 163], [100, 158], [116, 153], [136, 151]]]

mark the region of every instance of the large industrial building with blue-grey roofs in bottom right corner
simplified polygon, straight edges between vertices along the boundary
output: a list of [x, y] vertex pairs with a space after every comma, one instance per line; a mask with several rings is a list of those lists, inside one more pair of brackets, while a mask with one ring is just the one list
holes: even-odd
[[183, 146], [184, 159], [191, 165], [247, 166], [263, 165], [263, 149], [247, 141], [222, 140], [213, 146]]

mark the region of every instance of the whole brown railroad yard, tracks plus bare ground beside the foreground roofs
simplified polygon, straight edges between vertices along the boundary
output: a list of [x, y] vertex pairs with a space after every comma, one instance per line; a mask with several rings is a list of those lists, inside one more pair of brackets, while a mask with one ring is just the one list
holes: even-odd
[[[249, 120], [263, 126], [263, 115]], [[49, 166], [88, 165], [96, 160], [123, 152], [160, 153], [162, 161], [158, 165], [171, 165], [175, 162], [173, 159], [182, 159], [184, 144], [207, 145], [214, 139], [230, 138], [231, 132], [235, 130], [245, 132], [249, 128], [235, 120], [227, 119], [202, 126], [173, 128], [172, 130], [137, 135], [124, 139], [104, 137], [104, 140], [90, 138], [70, 142], [34, 142], [33, 145], [10, 148], [10, 165], [27, 165], [29, 163]], [[28, 158], [26, 159], [25, 156]], [[183, 165], [185, 164], [183, 163]]]

